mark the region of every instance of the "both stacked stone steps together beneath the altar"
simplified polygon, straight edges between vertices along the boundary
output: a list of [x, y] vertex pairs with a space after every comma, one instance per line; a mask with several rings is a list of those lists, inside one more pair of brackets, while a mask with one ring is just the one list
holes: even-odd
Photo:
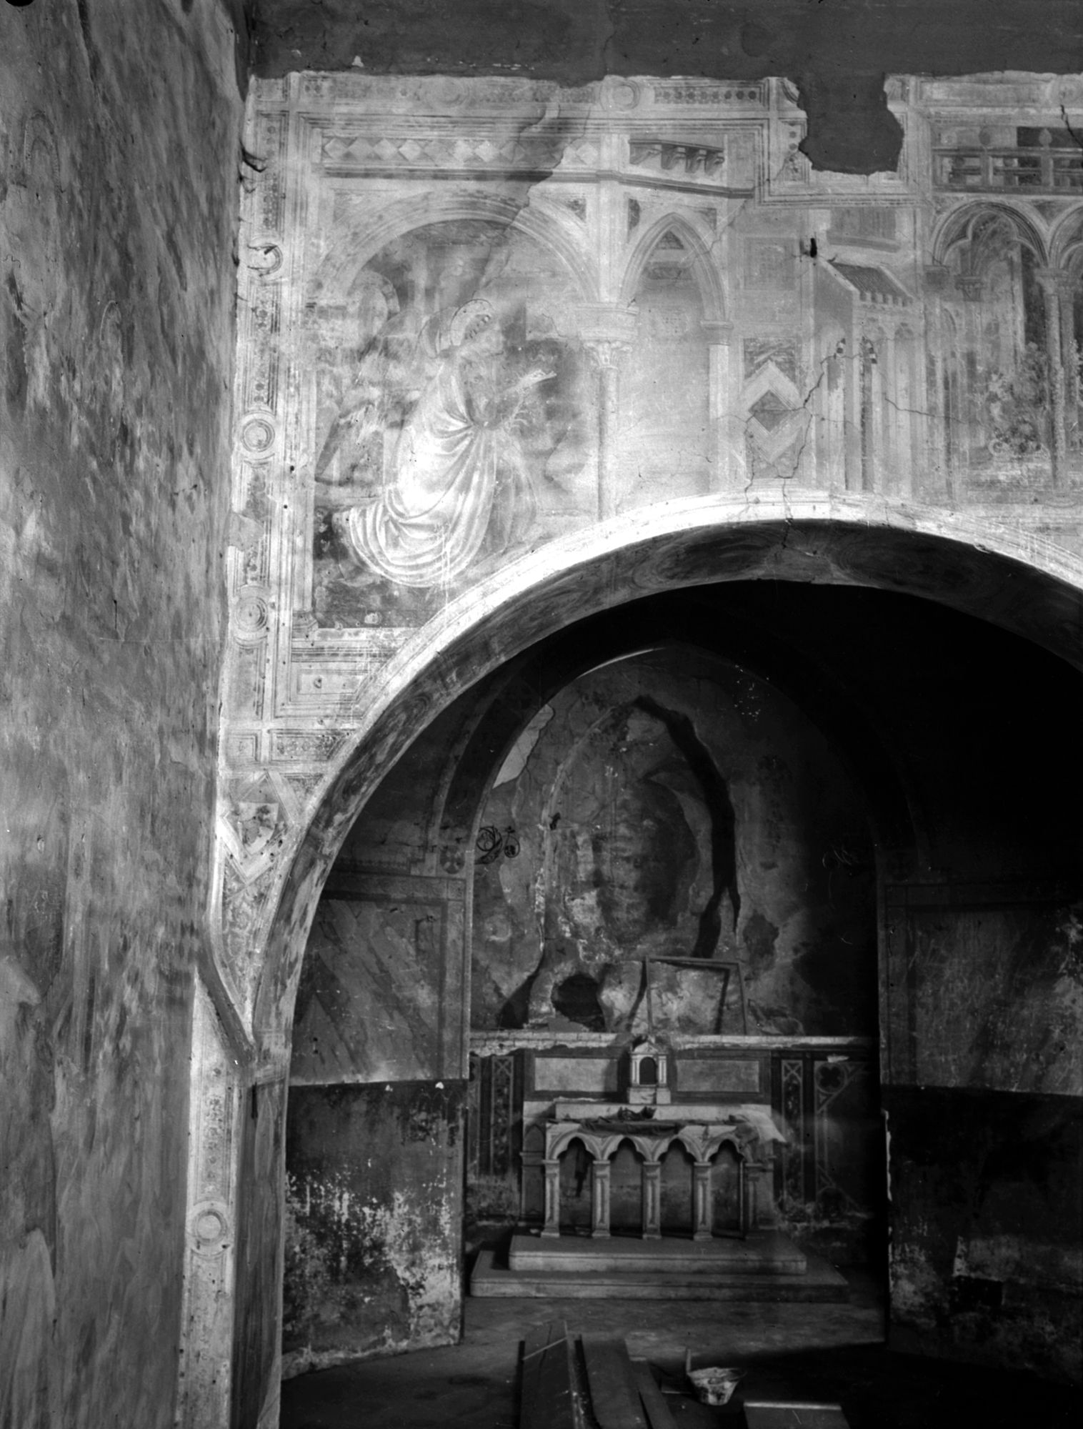
[[846, 1300], [849, 1286], [777, 1230], [743, 1240], [640, 1240], [517, 1235], [504, 1268], [483, 1250], [474, 1296], [596, 1300]]

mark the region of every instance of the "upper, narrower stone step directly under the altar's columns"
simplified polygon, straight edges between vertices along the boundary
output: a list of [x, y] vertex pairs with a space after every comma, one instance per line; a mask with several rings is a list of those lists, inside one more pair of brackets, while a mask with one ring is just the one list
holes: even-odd
[[743, 1239], [692, 1240], [663, 1236], [511, 1236], [511, 1270], [573, 1270], [596, 1275], [804, 1275], [806, 1258], [782, 1230], [757, 1230]]

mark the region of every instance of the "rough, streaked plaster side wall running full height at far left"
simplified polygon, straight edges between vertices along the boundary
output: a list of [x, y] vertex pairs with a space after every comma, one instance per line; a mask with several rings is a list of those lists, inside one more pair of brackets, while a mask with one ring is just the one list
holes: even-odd
[[217, 3], [0, 10], [0, 1423], [173, 1423], [240, 96]]

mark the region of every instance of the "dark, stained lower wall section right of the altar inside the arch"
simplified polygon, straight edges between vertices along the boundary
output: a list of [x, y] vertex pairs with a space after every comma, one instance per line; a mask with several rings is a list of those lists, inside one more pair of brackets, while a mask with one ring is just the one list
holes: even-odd
[[884, 1089], [892, 1342], [1083, 1378], [1080, 1097]]

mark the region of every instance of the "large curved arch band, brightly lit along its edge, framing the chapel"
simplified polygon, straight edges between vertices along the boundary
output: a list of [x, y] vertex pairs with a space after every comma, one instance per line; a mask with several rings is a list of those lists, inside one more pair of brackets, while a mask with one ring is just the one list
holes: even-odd
[[511, 563], [451, 602], [373, 682], [289, 857], [266, 925], [254, 1027], [281, 1037], [323, 882], [387, 769], [460, 693], [584, 612], [727, 580], [869, 586], [1013, 630], [1083, 670], [1083, 562], [1030, 533], [859, 497], [703, 497], [632, 512]]

